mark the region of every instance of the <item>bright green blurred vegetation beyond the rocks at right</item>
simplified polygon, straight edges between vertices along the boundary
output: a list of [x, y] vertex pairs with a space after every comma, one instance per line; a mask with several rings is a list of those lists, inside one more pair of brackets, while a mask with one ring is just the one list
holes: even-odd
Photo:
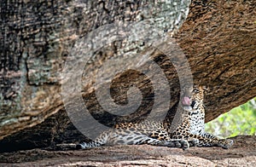
[[206, 130], [219, 137], [256, 135], [256, 97], [207, 123]]

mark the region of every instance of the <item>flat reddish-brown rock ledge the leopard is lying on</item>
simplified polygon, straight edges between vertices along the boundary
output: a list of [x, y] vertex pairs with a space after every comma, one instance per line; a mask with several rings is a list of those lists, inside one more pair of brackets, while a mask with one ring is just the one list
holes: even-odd
[[[218, 147], [140, 146], [89, 150], [33, 149], [0, 154], [0, 166], [256, 166], [256, 136], [237, 136], [229, 150]], [[1, 149], [1, 148], [0, 148]]]

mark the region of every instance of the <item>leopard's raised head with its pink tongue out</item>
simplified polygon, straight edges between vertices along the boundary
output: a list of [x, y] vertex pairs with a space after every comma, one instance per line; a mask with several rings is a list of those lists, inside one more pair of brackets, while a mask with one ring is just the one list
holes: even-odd
[[186, 86], [182, 89], [181, 101], [185, 110], [196, 110], [203, 105], [206, 86]]

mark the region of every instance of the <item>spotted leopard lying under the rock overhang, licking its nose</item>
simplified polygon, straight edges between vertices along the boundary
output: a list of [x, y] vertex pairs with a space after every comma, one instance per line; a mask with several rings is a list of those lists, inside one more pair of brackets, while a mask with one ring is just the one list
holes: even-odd
[[230, 148], [232, 140], [219, 139], [205, 131], [204, 86], [186, 86], [181, 91], [181, 108], [173, 122], [145, 120], [142, 123], [116, 124], [113, 129], [102, 132], [96, 140], [81, 142], [76, 148], [87, 149], [113, 145], [148, 144], [160, 147]]

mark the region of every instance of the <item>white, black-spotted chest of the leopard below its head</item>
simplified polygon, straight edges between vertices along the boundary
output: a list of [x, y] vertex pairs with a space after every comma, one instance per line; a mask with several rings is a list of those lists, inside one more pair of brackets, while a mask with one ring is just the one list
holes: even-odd
[[205, 113], [199, 111], [189, 112], [189, 132], [200, 135], [205, 129]]

